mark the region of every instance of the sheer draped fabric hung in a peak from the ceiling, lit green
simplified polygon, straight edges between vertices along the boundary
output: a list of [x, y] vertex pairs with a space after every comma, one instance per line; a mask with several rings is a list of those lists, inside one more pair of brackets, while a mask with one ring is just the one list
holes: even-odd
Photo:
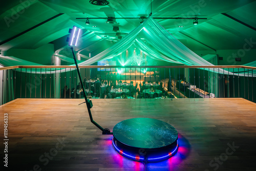
[[[79, 65], [89, 66], [97, 61], [111, 59], [120, 55], [132, 45], [134, 45], [148, 57], [151, 57], [153, 59], [179, 63], [187, 66], [213, 66], [212, 63], [204, 60], [202, 57], [198, 56], [193, 51], [189, 50], [186, 46], [184, 46], [178, 39], [176, 39], [172, 34], [165, 30], [159, 23], [157, 23], [152, 16], [148, 17], [142, 24], [135, 28], [131, 33], [126, 35], [123, 39], [119, 40], [112, 47], [106, 49], [105, 51], [88, 60], [79, 61]], [[63, 56], [56, 56], [62, 58], [63, 60]], [[5, 59], [8, 59], [9, 62], [5, 62]], [[14, 62], [11, 62], [10, 60]], [[66, 61], [68, 60], [66, 59]], [[24, 63], [24, 60], [20, 60], [20, 63], [18, 63], [17, 59], [11, 59], [11, 57], [1, 57], [0, 63], [4, 65], [8, 65], [9, 63], [9, 66], [10, 64], [11, 66], [39, 65], [37, 63], [32, 63], [28, 61]], [[213, 70], [210, 69], [210, 71]], [[219, 72], [222, 74], [230, 74], [230, 72], [222, 69], [220, 69]], [[248, 76], [251, 75], [252, 73], [250, 72]]]

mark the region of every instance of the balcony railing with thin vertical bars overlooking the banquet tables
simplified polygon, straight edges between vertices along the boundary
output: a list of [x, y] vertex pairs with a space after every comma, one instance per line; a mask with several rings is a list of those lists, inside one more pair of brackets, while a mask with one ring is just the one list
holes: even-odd
[[[104, 67], [104, 68], [102, 68]], [[255, 102], [256, 68], [79, 66], [89, 98], [244, 98]], [[84, 98], [75, 66], [0, 68], [0, 104], [16, 98]]]

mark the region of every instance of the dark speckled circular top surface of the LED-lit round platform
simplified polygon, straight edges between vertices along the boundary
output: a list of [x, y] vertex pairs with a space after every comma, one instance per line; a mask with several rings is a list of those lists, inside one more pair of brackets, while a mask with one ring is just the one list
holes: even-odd
[[177, 130], [170, 124], [151, 118], [133, 118], [117, 123], [113, 136], [125, 145], [137, 148], [160, 148], [178, 139]]

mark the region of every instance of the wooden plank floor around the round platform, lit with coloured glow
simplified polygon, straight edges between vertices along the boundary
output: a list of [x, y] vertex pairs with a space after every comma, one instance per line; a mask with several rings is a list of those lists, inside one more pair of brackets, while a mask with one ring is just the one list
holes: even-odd
[[[86, 104], [78, 105], [83, 101], [16, 99], [0, 106], [2, 141], [8, 113], [9, 170], [145, 170], [142, 163], [114, 151], [112, 136], [101, 135]], [[110, 130], [137, 117], [159, 119], [177, 129], [177, 154], [148, 164], [148, 170], [256, 169], [255, 103], [242, 98], [95, 99], [93, 105], [94, 120]], [[0, 153], [3, 160], [3, 143]]]

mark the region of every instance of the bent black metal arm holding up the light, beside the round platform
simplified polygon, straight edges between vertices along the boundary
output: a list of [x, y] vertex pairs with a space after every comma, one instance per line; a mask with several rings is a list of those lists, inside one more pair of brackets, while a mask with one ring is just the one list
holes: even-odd
[[89, 116], [90, 116], [90, 120], [91, 120], [91, 122], [95, 126], [98, 127], [98, 129], [100, 129], [102, 131], [103, 135], [112, 135], [113, 133], [110, 132], [109, 129], [103, 129], [103, 127], [101, 127], [97, 122], [95, 122], [93, 120], [93, 116], [92, 116], [92, 113], [91, 113], [91, 108], [93, 106], [93, 103], [92, 103], [92, 100], [87, 99], [87, 94], [86, 94], [86, 91], [84, 90], [84, 87], [83, 87], [83, 82], [82, 82], [82, 79], [81, 79], [81, 75], [80, 75], [80, 71], [79, 71], [79, 68], [78, 68], [78, 65], [77, 65], [77, 61], [76, 61], [76, 57], [75, 57], [75, 54], [74, 54], [73, 47], [71, 47], [71, 50], [72, 50], [72, 53], [73, 53], [73, 56], [74, 56], [76, 70], [77, 70], [77, 74], [78, 74], [78, 77], [79, 77], [79, 80], [80, 80], [80, 84], [81, 84], [81, 87], [82, 87], [82, 92], [83, 92], [84, 100], [86, 100], [86, 105], [87, 105], [88, 113], [89, 113]]

